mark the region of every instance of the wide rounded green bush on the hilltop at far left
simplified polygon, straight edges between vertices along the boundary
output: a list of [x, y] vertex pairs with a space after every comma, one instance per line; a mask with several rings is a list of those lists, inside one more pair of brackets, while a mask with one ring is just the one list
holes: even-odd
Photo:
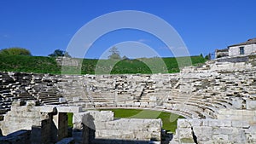
[[31, 55], [28, 49], [14, 47], [0, 50], [0, 55]]

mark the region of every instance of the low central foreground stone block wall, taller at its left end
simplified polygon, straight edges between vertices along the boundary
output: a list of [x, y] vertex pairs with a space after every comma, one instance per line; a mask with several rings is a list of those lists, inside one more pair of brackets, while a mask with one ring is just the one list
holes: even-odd
[[[162, 124], [160, 119], [113, 119], [113, 112], [89, 111], [74, 113], [73, 125], [76, 141], [86, 141], [84, 143], [161, 141]], [[82, 140], [81, 135], [87, 135], [85, 137], [89, 137], [89, 139]]]

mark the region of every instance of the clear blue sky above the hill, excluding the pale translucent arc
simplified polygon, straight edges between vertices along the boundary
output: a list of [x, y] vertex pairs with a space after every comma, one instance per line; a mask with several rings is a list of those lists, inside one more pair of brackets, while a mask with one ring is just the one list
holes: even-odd
[[[166, 20], [183, 38], [190, 55], [207, 55], [256, 37], [255, 5], [255, 0], [0, 0], [0, 49], [22, 47], [32, 55], [49, 55], [67, 49], [73, 35], [90, 20], [114, 11], [138, 10]], [[144, 43], [162, 57], [172, 56], [160, 39], [126, 29], [97, 39], [85, 57], [99, 58], [115, 45], [143, 47], [128, 41]], [[122, 51], [121, 55], [130, 56]]]

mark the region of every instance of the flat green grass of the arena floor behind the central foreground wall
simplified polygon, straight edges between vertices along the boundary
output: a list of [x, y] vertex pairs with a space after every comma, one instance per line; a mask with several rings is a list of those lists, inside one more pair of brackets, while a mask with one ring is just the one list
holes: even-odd
[[[175, 133], [177, 129], [177, 118], [183, 118], [177, 114], [170, 112], [158, 112], [151, 110], [137, 110], [137, 109], [104, 109], [101, 111], [113, 111], [114, 118], [161, 118], [163, 122], [163, 129]], [[172, 116], [172, 117], [171, 117]], [[174, 118], [174, 119], [173, 119]], [[173, 119], [173, 120], [170, 120]]]

